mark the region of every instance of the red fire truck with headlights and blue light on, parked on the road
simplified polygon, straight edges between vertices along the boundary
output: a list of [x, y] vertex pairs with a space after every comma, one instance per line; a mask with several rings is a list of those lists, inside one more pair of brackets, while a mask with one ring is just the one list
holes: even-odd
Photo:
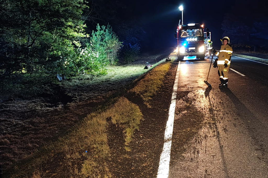
[[206, 40], [210, 39], [209, 29], [201, 24], [179, 25], [175, 36], [177, 39], [177, 61], [189, 59], [204, 60], [206, 55]]

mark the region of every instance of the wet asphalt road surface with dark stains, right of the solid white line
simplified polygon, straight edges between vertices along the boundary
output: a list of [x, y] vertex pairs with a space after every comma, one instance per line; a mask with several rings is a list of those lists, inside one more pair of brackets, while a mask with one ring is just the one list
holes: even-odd
[[[174, 53], [171, 54], [176, 55]], [[210, 60], [183, 61], [169, 178], [268, 177], [268, 65], [232, 57], [228, 88]]]

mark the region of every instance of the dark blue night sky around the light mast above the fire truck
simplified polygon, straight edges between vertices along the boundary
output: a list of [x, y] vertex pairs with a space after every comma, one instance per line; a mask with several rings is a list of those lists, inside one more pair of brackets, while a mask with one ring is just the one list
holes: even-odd
[[176, 45], [174, 32], [182, 15], [178, 9], [180, 5], [184, 7], [183, 24], [203, 23], [211, 31], [214, 47], [220, 48], [219, 39], [223, 33], [221, 23], [224, 19], [224, 11], [221, 9], [225, 9], [226, 12], [228, 8], [222, 8], [218, 1], [129, 0], [127, 3], [131, 10], [127, 11], [128, 14], [125, 12], [122, 15], [125, 18], [135, 18], [147, 26], [148, 35], [153, 35], [153, 43], [158, 44], [159, 48]]

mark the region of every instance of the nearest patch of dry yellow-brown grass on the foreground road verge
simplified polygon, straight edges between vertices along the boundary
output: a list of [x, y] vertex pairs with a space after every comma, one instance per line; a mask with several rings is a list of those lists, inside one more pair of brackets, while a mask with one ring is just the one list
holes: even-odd
[[[66, 137], [47, 144], [23, 165], [14, 168], [10, 177], [111, 177], [107, 164], [109, 157], [107, 127], [116, 124], [124, 128], [125, 149], [133, 133], [139, 129], [143, 115], [139, 107], [120, 97], [110, 109], [89, 114]], [[107, 121], [111, 118], [111, 121]], [[59, 159], [61, 158], [61, 159]], [[58, 160], [59, 159], [59, 160]]]

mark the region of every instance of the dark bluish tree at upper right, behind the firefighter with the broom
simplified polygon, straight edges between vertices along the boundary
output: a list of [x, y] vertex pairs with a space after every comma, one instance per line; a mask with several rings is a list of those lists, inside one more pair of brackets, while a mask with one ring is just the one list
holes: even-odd
[[260, 0], [245, 0], [243, 3], [237, 0], [224, 16], [224, 36], [229, 36], [235, 46], [268, 47], [265, 30], [268, 26], [267, 10]]

